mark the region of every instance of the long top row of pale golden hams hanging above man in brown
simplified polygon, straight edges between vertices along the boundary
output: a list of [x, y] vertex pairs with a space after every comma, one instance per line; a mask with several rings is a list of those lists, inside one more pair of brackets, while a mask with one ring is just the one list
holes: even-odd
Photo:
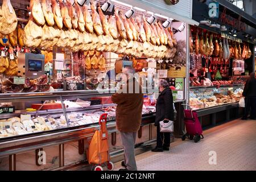
[[[105, 16], [100, 4], [72, 6], [67, 0], [31, 0], [31, 15], [24, 27], [23, 44], [27, 48], [50, 49], [53, 46], [77, 51], [105, 51], [132, 56], [172, 58], [176, 39], [171, 28], [160, 22], [148, 24], [137, 17], [127, 19], [122, 12]], [[96, 11], [98, 10], [98, 12]]]

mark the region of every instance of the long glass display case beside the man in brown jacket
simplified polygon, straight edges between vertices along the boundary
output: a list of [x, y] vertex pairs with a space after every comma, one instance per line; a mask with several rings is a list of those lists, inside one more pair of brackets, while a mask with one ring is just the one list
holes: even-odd
[[[0, 94], [0, 143], [98, 125], [103, 113], [115, 122], [112, 93], [98, 91]], [[155, 98], [148, 95], [142, 116], [155, 113]]]

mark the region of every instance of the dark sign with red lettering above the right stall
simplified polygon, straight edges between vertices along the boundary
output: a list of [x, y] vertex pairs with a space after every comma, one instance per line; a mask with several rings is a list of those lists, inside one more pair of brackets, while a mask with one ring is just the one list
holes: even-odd
[[246, 30], [246, 24], [241, 22], [241, 15], [238, 19], [232, 18], [232, 16], [226, 14], [226, 8], [224, 8], [224, 11], [221, 13], [220, 21], [222, 23], [228, 24], [233, 28], [236, 28], [238, 31]]

